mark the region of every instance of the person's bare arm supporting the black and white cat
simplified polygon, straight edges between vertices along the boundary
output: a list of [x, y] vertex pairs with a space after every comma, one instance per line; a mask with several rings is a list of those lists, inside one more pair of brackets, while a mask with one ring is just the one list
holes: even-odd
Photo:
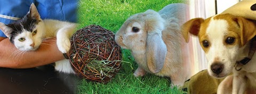
[[45, 41], [36, 51], [19, 52], [8, 38], [0, 37], [0, 67], [33, 68], [65, 59], [58, 50], [56, 41], [52, 41], [55, 39], [48, 40], [51, 41]]

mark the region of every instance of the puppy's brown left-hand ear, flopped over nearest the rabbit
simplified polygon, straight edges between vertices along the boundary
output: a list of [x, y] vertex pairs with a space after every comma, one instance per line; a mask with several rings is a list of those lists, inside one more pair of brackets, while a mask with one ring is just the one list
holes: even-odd
[[201, 23], [203, 22], [204, 22], [203, 18], [194, 18], [184, 23], [181, 26], [182, 35], [185, 38], [186, 42], [189, 41], [188, 32], [197, 36], [200, 30]]

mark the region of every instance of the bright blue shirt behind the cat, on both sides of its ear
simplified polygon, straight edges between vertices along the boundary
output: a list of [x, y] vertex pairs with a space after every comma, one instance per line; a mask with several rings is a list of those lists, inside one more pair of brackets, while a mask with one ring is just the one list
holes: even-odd
[[[22, 18], [32, 3], [42, 19], [77, 22], [78, 0], [4, 0], [0, 3], [0, 14]], [[0, 22], [10, 24], [14, 21], [0, 17]], [[0, 37], [6, 37], [1, 30]]]

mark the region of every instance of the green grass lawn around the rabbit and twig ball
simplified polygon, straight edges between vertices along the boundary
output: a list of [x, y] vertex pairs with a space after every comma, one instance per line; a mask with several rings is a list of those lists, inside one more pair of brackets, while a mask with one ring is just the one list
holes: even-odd
[[[145, 12], [148, 9], [161, 10], [171, 3], [182, 0], [80, 0], [78, 8], [79, 28], [96, 24], [113, 31], [121, 27], [129, 16]], [[121, 70], [107, 84], [82, 80], [78, 93], [183, 93], [179, 89], [171, 89], [169, 78], [146, 74], [134, 77], [137, 64], [129, 50], [122, 50], [123, 61]]]

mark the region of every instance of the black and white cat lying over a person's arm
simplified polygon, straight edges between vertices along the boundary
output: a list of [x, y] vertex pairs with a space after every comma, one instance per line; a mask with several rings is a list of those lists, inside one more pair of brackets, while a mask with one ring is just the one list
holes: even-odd
[[[0, 22], [0, 29], [21, 51], [37, 50], [43, 39], [57, 37], [58, 49], [62, 53], [67, 53], [70, 49], [70, 37], [76, 30], [76, 24], [58, 20], [42, 20], [33, 3], [27, 15], [22, 19], [8, 25]], [[67, 59], [55, 62], [55, 70], [75, 73]]]

